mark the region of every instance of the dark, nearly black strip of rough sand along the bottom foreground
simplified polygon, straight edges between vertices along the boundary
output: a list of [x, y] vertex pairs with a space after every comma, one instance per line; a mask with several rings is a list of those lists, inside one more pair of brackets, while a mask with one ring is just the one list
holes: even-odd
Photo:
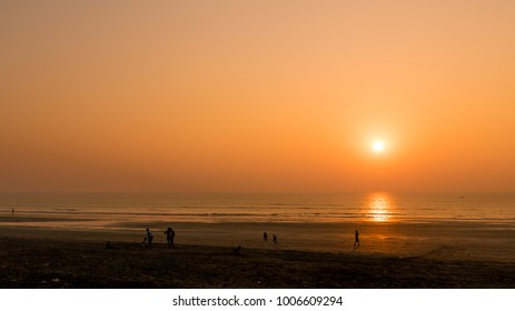
[[513, 288], [515, 264], [0, 239], [1, 288]]

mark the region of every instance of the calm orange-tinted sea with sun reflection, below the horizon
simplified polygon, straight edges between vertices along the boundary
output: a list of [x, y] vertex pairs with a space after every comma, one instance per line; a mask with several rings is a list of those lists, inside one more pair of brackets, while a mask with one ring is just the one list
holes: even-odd
[[0, 212], [77, 223], [437, 222], [515, 224], [515, 194], [0, 194]]

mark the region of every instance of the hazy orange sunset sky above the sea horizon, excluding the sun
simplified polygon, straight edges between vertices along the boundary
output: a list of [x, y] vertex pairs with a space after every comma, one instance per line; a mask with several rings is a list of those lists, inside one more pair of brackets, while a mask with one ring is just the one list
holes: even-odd
[[2, 0], [0, 191], [515, 191], [514, 81], [511, 0]]

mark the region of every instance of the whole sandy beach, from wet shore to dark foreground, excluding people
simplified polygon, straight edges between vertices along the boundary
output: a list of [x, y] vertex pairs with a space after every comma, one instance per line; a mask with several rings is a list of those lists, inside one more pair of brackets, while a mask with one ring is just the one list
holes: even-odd
[[[341, 230], [351, 233], [354, 223], [325, 224], [324, 232], [316, 224], [300, 223], [178, 223], [174, 227], [177, 245], [169, 249], [158, 230], [166, 227], [151, 223], [156, 240], [149, 250], [141, 244], [143, 227], [132, 225], [138, 230], [2, 225], [0, 287], [385, 289], [515, 284], [514, 242], [506, 235], [509, 230], [498, 228], [360, 224], [363, 243], [355, 250], [351, 234], [338, 241], [325, 240], [337, 234], [335, 228], [338, 234]], [[279, 243], [264, 242], [261, 228], [278, 232]], [[320, 243], [301, 243], [304, 235], [316, 231]], [[406, 234], [413, 238], [403, 238]], [[106, 247], [107, 241], [112, 249]], [[234, 252], [237, 245], [241, 245], [239, 254]]]

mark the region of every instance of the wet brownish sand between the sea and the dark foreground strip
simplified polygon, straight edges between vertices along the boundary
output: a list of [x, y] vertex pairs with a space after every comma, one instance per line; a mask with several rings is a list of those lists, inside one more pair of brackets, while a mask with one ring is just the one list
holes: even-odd
[[[161, 219], [118, 222], [92, 227], [76, 219], [0, 217], [4, 237], [31, 239], [73, 239], [140, 242], [145, 228], [155, 233], [156, 243], [165, 243], [164, 231], [172, 227], [181, 244], [237, 247], [308, 252], [355, 252], [430, 259], [492, 260], [515, 263], [512, 225], [440, 221], [403, 222], [171, 222]], [[362, 247], [354, 249], [354, 232], [359, 230]], [[268, 241], [263, 240], [267, 232]], [[278, 243], [271, 235], [278, 237]]]

